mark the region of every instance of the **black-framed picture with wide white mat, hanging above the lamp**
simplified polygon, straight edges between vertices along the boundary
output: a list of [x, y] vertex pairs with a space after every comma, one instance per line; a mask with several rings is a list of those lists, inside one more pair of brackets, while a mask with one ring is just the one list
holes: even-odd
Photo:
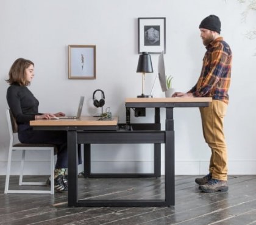
[[138, 54], [165, 53], [165, 17], [138, 18]]

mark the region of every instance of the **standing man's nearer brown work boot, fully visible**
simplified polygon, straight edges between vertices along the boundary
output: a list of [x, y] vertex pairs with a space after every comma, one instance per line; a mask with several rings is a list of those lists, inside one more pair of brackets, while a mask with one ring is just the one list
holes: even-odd
[[229, 190], [229, 186], [227, 185], [227, 181], [221, 181], [219, 179], [210, 179], [207, 184], [200, 185], [199, 189], [202, 192], [213, 193], [213, 192], [227, 192]]

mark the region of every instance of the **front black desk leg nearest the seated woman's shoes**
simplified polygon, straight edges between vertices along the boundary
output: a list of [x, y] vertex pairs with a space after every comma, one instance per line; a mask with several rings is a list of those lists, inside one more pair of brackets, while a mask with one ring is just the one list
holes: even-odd
[[76, 206], [78, 199], [77, 133], [68, 131], [68, 206]]

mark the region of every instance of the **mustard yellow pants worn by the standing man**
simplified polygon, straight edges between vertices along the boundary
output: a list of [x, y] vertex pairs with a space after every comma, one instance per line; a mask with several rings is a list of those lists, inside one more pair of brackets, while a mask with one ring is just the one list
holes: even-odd
[[213, 100], [209, 107], [201, 107], [205, 142], [212, 150], [209, 172], [212, 178], [227, 181], [227, 145], [224, 136], [224, 116], [227, 104]]

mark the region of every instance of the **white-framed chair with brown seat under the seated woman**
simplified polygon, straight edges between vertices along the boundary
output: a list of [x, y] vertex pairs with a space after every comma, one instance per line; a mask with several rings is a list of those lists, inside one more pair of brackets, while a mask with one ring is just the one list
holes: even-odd
[[[55, 146], [50, 144], [23, 144], [23, 143], [14, 143], [14, 134], [18, 132], [18, 126], [16, 124], [16, 120], [12, 115], [10, 109], [6, 109], [7, 122], [9, 127], [10, 134], [10, 145], [9, 145], [9, 155], [7, 162], [7, 172], [5, 179], [5, 189], [4, 193], [31, 193], [31, 194], [54, 194], [54, 150]], [[10, 182], [10, 168], [12, 162], [12, 151], [20, 150], [22, 151], [21, 157], [21, 167], [20, 167], [20, 179], [19, 185], [46, 185], [46, 181], [44, 182], [23, 182], [23, 169], [24, 169], [24, 161], [26, 151], [49, 151], [51, 154], [51, 189], [50, 190], [9, 190], [9, 182]]]

